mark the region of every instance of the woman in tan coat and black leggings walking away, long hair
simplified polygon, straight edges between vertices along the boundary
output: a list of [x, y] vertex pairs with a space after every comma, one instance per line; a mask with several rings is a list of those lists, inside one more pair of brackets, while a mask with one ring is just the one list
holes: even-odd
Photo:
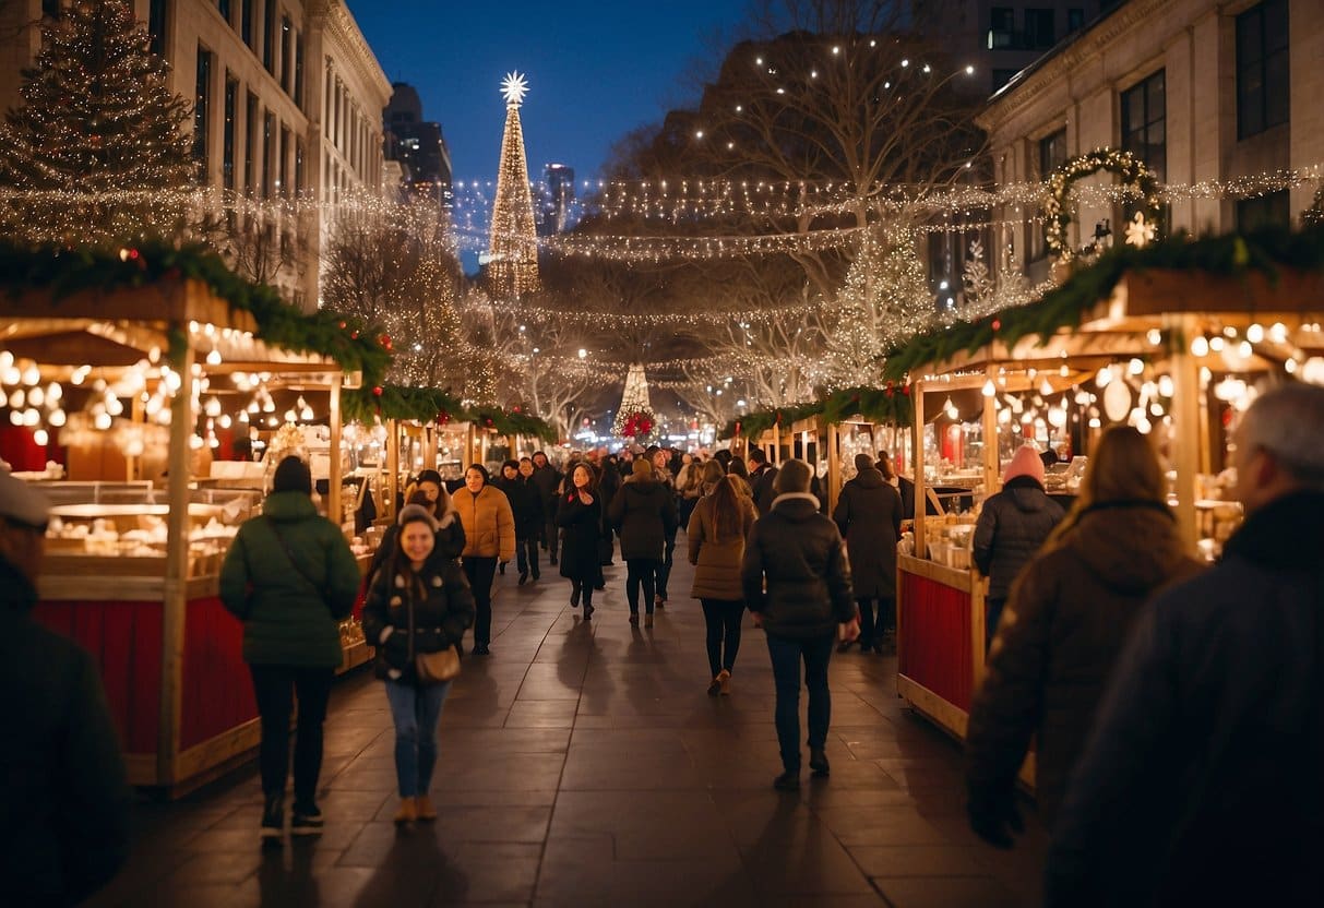
[[711, 477], [715, 483], [712, 491], [695, 506], [686, 532], [690, 537], [690, 564], [695, 565], [690, 596], [703, 605], [712, 674], [708, 696], [715, 696], [731, 694], [731, 671], [740, 651], [740, 619], [744, 617], [740, 564], [759, 511], [736, 488], [733, 477], [720, 475], [720, 463], [708, 463], [714, 469], [710, 471], [704, 465], [704, 478]]

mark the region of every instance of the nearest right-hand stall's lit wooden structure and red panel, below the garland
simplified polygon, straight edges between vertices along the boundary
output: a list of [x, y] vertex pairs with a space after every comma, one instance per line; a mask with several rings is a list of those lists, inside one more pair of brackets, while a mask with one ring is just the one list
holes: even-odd
[[976, 504], [1000, 488], [1002, 465], [1029, 431], [1012, 433], [1019, 425], [1008, 418], [1012, 394], [1034, 396], [1054, 421], [1067, 421], [1076, 454], [1087, 453], [1108, 422], [1152, 431], [1169, 469], [1169, 503], [1182, 536], [1193, 555], [1211, 557], [1238, 512], [1227, 500], [1226, 475], [1218, 474], [1247, 389], [1268, 373], [1283, 379], [1315, 368], [1315, 380], [1324, 377], [1321, 312], [1317, 273], [1284, 269], [1270, 281], [1256, 271], [1237, 279], [1127, 271], [1071, 324], [1026, 332], [1012, 344], [994, 334], [973, 351], [912, 365], [911, 376], [923, 377], [914, 394], [914, 551], [899, 559], [899, 695], [961, 737], [984, 676], [986, 584], [969, 563], [973, 514], [955, 518], [937, 508], [935, 516], [925, 507], [939, 477], [919, 439], [925, 413], [940, 400], [972, 389], [982, 400], [981, 475], [970, 484]]

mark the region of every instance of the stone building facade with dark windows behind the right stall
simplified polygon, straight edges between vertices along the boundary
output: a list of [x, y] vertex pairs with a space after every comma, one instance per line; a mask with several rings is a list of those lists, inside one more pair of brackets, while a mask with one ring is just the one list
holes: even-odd
[[[1172, 184], [1227, 181], [1324, 163], [1324, 4], [1319, 0], [1129, 0], [1021, 71], [978, 118], [998, 184], [1042, 180], [1098, 147], [1133, 151]], [[1096, 180], [1110, 180], [1100, 175]], [[1299, 218], [1313, 184], [1253, 199], [1185, 199], [1172, 229], [1225, 233]], [[1029, 218], [1004, 210], [994, 220]], [[1082, 206], [1070, 241], [1120, 209]], [[1113, 230], [1117, 233], [1117, 230]], [[1043, 229], [1004, 228], [1033, 278]]]

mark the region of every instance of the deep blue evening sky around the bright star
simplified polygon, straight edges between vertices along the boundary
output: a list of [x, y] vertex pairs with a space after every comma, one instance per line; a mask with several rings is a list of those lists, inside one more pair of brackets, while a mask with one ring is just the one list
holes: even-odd
[[387, 77], [417, 87], [441, 123], [457, 180], [495, 179], [499, 85], [518, 69], [530, 176], [556, 161], [583, 181], [628, 131], [698, 98], [694, 74], [715, 73], [747, 0], [348, 4]]

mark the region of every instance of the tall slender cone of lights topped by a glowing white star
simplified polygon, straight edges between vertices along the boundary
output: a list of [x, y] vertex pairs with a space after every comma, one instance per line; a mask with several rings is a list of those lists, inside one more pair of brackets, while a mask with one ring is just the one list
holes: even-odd
[[534, 226], [534, 195], [528, 189], [528, 161], [519, 106], [528, 83], [519, 73], [502, 82], [506, 97], [506, 132], [500, 140], [500, 169], [493, 203], [487, 261], [487, 293], [510, 299], [538, 290], [538, 234]]

